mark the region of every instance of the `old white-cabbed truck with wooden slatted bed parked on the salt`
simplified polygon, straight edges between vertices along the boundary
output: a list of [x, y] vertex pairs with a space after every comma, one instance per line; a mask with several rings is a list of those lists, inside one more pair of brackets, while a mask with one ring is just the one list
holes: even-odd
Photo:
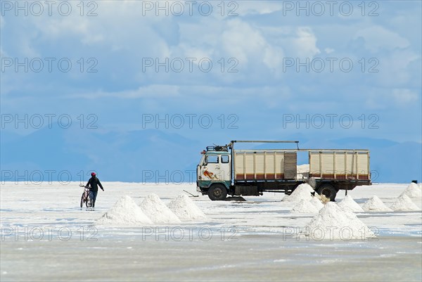
[[[245, 150], [234, 148], [236, 143], [295, 143], [296, 148]], [[307, 153], [308, 160], [300, 169], [298, 153]], [[201, 155], [196, 190], [211, 200], [264, 192], [290, 194], [307, 183], [334, 201], [340, 190], [347, 194], [356, 186], [371, 185], [369, 150], [300, 149], [299, 141], [231, 141], [207, 146]]]

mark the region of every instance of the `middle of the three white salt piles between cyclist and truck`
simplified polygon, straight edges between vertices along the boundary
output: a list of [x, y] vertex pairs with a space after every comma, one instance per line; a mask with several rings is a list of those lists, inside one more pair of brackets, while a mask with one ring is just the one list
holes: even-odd
[[165, 203], [154, 193], [146, 196], [139, 205], [146, 214], [156, 224], [180, 223], [179, 217], [172, 212]]

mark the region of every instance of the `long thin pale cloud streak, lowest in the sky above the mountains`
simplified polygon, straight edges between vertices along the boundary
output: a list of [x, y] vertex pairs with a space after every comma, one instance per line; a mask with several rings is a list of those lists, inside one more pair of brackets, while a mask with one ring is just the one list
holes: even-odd
[[[207, 86], [207, 85], [165, 85], [153, 84], [125, 91], [96, 91], [65, 96], [68, 99], [112, 98], [115, 103], [124, 100], [139, 100], [142, 104], [160, 104], [160, 107], [191, 108], [196, 110], [212, 107], [230, 108], [239, 101], [253, 101], [255, 105], [263, 103], [267, 108], [276, 108], [292, 97], [288, 86]], [[259, 96], [259, 98], [257, 98]], [[218, 97], [218, 98], [216, 98]], [[241, 99], [241, 100], [240, 100]], [[174, 101], [174, 102], [172, 102]], [[188, 103], [187, 103], [188, 101]], [[204, 103], [206, 101], [206, 103]], [[135, 102], [133, 102], [135, 103]], [[246, 110], [247, 111], [247, 110]]]

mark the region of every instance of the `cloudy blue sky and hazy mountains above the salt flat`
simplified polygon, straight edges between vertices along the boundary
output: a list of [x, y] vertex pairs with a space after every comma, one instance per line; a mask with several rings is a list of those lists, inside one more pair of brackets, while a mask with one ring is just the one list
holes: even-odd
[[422, 181], [421, 5], [0, 1], [1, 179], [186, 181], [212, 143], [293, 139]]

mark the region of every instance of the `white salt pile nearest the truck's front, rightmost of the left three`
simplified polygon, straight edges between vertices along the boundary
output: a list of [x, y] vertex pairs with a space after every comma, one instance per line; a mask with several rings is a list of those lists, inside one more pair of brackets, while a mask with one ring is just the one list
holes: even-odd
[[200, 208], [186, 195], [174, 198], [168, 205], [170, 210], [181, 220], [207, 218]]

